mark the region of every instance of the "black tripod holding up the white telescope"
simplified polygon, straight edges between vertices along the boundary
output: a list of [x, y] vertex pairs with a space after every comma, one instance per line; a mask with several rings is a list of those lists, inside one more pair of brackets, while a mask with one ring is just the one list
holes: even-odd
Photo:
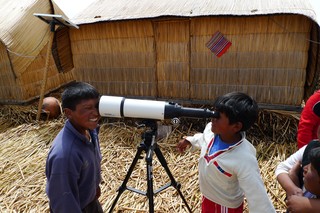
[[[189, 212], [192, 212], [189, 205], [187, 204], [186, 199], [184, 198], [184, 196], [182, 195], [181, 191], [180, 191], [180, 183], [176, 182], [173, 175], [171, 174], [169, 167], [167, 165], [167, 162], [162, 154], [162, 152], [160, 151], [157, 142], [155, 140], [156, 138], [156, 133], [157, 133], [157, 124], [155, 121], [151, 120], [151, 121], [147, 121], [147, 123], [145, 123], [146, 126], [149, 126], [151, 128], [151, 130], [147, 130], [143, 135], [142, 135], [142, 142], [140, 143], [137, 153], [131, 163], [131, 166], [128, 170], [128, 173], [124, 179], [124, 181], [122, 182], [122, 185], [119, 187], [118, 189], [118, 195], [115, 198], [115, 200], [112, 203], [112, 206], [110, 208], [110, 213], [112, 212], [112, 210], [114, 209], [117, 201], [119, 200], [121, 194], [127, 189], [129, 191], [132, 192], [136, 192], [138, 194], [147, 196], [149, 198], [149, 212], [153, 213], [154, 212], [154, 202], [153, 202], [153, 196], [156, 195], [157, 193], [165, 190], [166, 188], [173, 186], [179, 193], [180, 197], [182, 198], [184, 204], [186, 205], [187, 209], [189, 210]], [[138, 189], [134, 189], [131, 187], [127, 186], [127, 182], [131, 176], [131, 173], [133, 172], [133, 169], [136, 165], [136, 163], [138, 162], [139, 159], [141, 159], [141, 154], [142, 151], [146, 152], [146, 163], [147, 163], [147, 191], [143, 192], [140, 191]], [[166, 185], [160, 187], [159, 189], [157, 189], [156, 191], [153, 191], [153, 174], [152, 174], [152, 157], [153, 157], [153, 152], [156, 153], [157, 158], [159, 159], [159, 162], [161, 163], [161, 165], [163, 166], [163, 168], [165, 169], [167, 175], [170, 178], [169, 183], [167, 183]]]

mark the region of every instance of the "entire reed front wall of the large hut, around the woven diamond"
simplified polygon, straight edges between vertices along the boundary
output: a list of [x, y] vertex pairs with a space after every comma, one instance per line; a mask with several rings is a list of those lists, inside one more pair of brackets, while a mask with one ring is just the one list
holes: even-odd
[[[205, 45], [216, 31], [232, 42], [220, 58]], [[104, 94], [210, 102], [237, 90], [298, 106], [310, 32], [301, 15], [219, 16], [88, 24], [70, 38], [75, 78]]]

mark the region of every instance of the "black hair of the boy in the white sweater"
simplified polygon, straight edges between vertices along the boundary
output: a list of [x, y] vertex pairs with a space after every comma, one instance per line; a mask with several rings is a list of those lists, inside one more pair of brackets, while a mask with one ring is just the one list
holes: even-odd
[[242, 92], [231, 92], [218, 97], [214, 110], [225, 113], [229, 123], [242, 123], [240, 131], [248, 130], [258, 118], [259, 107], [255, 100]]

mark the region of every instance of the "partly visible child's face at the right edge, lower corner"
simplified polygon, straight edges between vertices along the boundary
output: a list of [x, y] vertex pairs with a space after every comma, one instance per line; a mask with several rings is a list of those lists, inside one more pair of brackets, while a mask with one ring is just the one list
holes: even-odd
[[320, 195], [320, 177], [311, 163], [303, 167], [304, 187], [314, 195]]

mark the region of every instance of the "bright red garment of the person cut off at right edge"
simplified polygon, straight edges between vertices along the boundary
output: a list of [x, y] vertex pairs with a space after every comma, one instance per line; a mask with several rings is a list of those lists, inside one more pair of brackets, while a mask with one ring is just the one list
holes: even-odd
[[320, 101], [320, 90], [317, 90], [310, 96], [301, 112], [297, 135], [297, 145], [299, 149], [313, 139], [318, 139], [317, 129], [320, 125], [320, 117], [312, 110], [318, 101]]

